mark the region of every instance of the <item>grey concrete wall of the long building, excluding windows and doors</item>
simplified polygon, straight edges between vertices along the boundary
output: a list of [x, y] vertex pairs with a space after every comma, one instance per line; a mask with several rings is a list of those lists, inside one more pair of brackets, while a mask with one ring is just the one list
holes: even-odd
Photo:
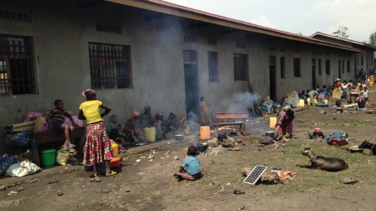
[[[245, 32], [222, 33], [224, 28], [219, 26], [190, 28], [189, 20], [169, 15], [147, 20], [144, 15], [153, 12], [112, 3], [85, 9], [79, 9], [74, 0], [14, 0], [2, 5], [5, 9], [32, 13], [32, 22], [0, 19], [0, 34], [33, 37], [38, 87], [36, 94], [1, 97], [2, 128], [22, 122], [27, 112], [53, 108], [56, 98], [77, 114], [84, 100], [81, 92], [91, 87], [88, 42], [131, 46], [133, 87], [97, 90], [98, 99], [112, 107], [111, 114], [116, 114], [119, 121], [126, 120], [133, 110], [143, 111], [146, 104], [151, 106], [152, 114], [186, 114], [183, 50], [198, 52], [199, 91], [206, 97], [213, 116], [220, 111], [243, 111], [249, 106], [247, 81], [234, 81], [234, 53], [248, 54], [249, 76], [259, 102], [270, 94], [270, 55], [277, 58], [279, 99], [286, 92], [312, 87], [313, 57], [322, 58], [322, 75], [318, 75], [316, 67], [320, 85], [330, 85], [337, 68], [338, 53], [332, 53], [333, 49], [320, 48], [320, 55], [313, 46], [279, 41], [276, 50], [270, 51], [270, 43], [263, 36], [247, 38]], [[98, 22], [121, 25], [121, 34], [97, 31]], [[184, 42], [184, 35], [197, 36], [197, 43]], [[217, 45], [209, 45], [208, 40], [213, 37], [217, 38]], [[235, 46], [239, 41], [245, 43], [245, 48]], [[299, 53], [295, 52], [297, 47]], [[218, 52], [219, 83], [209, 82], [208, 51]], [[286, 78], [280, 78], [280, 56], [286, 59]], [[301, 77], [293, 76], [293, 57], [301, 58]], [[325, 75], [326, 58], [331, 59], [330, 75]], [[344, 74], [348, 78], [351, 75]], [[0, 137], [0, 153], [12, 151], [3, 141], [3, 131]]]

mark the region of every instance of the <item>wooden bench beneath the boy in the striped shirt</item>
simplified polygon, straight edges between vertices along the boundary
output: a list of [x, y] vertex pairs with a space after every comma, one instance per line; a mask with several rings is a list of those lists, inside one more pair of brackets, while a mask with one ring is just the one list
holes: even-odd
[[[82, 144], [81, 138], [85, 135], [85, 127], [75, 127], [74, 130], [71, 132], [71, 141], [76, 144], [77, 149], [77, 158], [81, 158], [82, 155]], [[64, 130], [51, 130], [46, 132], [37, 132], [31, 134], [32, 137], [32, 155], [33, 161], [35, 164], [40, 166], [39, 161], [39, 153], [38, 153], [38, 145], [44, 143], [51, 143], [57, 141], [64, 141], [65, 134]]]

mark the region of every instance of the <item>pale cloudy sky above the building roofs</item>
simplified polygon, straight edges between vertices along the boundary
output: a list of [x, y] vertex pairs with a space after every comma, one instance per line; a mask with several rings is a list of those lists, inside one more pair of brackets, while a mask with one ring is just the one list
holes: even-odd
[[376, 0], [165, 0], [305, 36], [348, 27], [349, 39], [368, 41], [376, 31]]

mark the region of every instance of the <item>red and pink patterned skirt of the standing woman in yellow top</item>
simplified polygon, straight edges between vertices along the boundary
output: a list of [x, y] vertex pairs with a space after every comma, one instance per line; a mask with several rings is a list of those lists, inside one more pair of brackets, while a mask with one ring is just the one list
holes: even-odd
[[105, 160], [110, 160], [113, 156], [114, 151], [103, 121], [88, 124], [83, 163], [94, 165]]

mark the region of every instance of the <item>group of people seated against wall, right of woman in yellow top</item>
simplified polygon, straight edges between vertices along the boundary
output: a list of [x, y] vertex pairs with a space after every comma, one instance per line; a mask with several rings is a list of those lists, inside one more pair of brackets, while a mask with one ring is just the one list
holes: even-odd
[[172, 138], [182, 127], [183, 118], [177, 119], [177, 116], [171, 112], [164, 116], [163, 112], [158, 112], [155, 116], [151, 115], [150, 106], [144, 107], [144, 112], [140, 114], [133, 111], [128, 120], [124, 123], [118, 123], [116, 115], [110, 116], [110, 121], [106, 126], [108, 136], [119, 145], [119, 150], [125, 151], [125, 147], [146, 144], [145, 127], [155, 127], [157, 140]]

